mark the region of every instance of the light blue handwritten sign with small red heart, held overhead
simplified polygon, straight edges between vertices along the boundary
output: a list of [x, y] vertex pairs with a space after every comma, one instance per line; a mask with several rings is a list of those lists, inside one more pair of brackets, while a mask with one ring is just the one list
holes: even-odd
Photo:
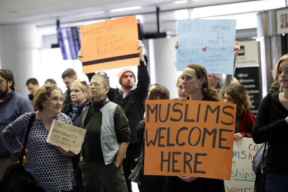
[[177, 71], [200, 64], [208, 73], [233, 74], [235, 19], [178, 21]]

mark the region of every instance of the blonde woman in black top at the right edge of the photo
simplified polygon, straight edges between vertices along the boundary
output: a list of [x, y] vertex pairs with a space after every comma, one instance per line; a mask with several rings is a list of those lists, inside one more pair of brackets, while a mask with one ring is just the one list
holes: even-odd
[[260, 102], [252, 138], [256, 144], [268, 142], [266, 156], [266, 192], [288, 189], [288, 54], [283, 55], [273, 70], [280, 93], [268, 93]]

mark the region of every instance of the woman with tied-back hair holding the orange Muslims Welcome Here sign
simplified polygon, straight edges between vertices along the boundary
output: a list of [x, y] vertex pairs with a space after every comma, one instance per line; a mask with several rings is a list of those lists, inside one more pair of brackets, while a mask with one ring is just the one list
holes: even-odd
[[[189, 100], [220, 101], [216, 89], [208, 86], [208, 73], [202, 65], [187, 65], [181, 77], [183, 92], [189, 95]], [[182, 176], [166, 176], [165, 178], [164, 192], [225, 192], [224, 181], [221, 179]]]

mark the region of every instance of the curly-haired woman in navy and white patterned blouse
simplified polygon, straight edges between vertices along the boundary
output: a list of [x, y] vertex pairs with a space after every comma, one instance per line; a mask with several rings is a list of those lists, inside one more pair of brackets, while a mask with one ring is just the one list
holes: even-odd
[[[70, 118], [61, 113], [63, 95], [55, 85], [44, 85], [35, 93], [33, 104], [38, 110], [29, 132], [25, 169], [30, 173], [38, 187], [38, 192], [72, 191], [75, 185], [71, 156], [75, 154], [61, 146], [46, 143], [53, 119], [72, 124]], [[17, 139], [25, 136], [32, 113], [24, 113], [10, 123], [2, 132], [7, 149], [13, 154], [22, 151], [23, 146]]]

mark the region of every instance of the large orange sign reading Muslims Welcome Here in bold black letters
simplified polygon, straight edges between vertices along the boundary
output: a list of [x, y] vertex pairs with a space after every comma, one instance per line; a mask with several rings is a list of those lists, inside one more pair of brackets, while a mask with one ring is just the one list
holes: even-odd
[[145, 175], [230, 180], [236, 105], [146, 100]]

